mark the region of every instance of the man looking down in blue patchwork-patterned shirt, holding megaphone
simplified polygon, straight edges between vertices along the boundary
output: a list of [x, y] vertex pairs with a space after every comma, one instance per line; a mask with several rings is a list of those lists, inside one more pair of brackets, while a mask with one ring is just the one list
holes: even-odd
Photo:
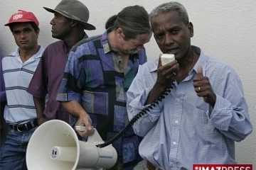
[[[95, 127], [103, 140], [110, 140], [124, 128], [126, 91], [146, 62], [144, 44], [152, 35], [149, 14], [142, 6], [128, 6], [114, 18], [103, 35], [73, 47], [60, 84], [57, 100], [79, 118], [77, 125], [86, 126], [78, 131], [81, 136], [92, 135]], [[132, 128], [114, 142], [118, 160], [112, 169], [132, 169], [141, 160], [139, 142]]]

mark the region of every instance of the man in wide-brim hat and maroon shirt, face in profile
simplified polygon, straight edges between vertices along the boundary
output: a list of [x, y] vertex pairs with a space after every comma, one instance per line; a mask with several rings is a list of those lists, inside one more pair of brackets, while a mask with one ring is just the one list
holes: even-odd
[[[73, 125], [75, 120], [56, 101], [56, 96], [70, 49], [75, 43], [87, 38], [84, 30], [95, 30], [96, 28], [87, 22], [89, 10], [80, 1], [63, 0], [54, 9], [43, 8], [54, 13], [54, 18], [50, 21], [51, 32], [52, 37], [59, 39], [59, 41], [48, 45], [43, 52], [41, 61], [28, 87], [28, 93], [33, 95], [39, 125], [51, 119], [64, 120]], [[46, 95], [49, 99], [45, 105], [44, 98]]]

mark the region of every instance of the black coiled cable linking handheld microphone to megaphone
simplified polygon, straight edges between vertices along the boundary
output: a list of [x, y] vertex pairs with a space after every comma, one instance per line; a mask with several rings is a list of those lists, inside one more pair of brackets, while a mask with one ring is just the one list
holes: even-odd
[[150, 106], [144, 108], [142, 111], [140, 111], [137, 115], [135, 115], [132, 120], [130, 120], [129, 124], [121, 131], [119, 132], [115, 137], [113, 137], [111, 140], [96, 145], [96, 147], [107, 147], [108, 145], [111, 145], [112, 143], [114, 143], [115, 141], [117, 141], [120, 137], [122, 137], [122, 135], [124, 135], [125, 132], [127, 132], [127, 130], [129, 128], [132, 127], [132, 125], [134, 125], [134, 123], [137, 122], [137, 120], [139, 120], [139, 118], [142, 118], [142, 115], [145, 115], [147, 112], [149, 112], [153, 107], [155, 107], [156, 105], [159, 104], [160, 101], [162, 101], [163, 98], [165, 98], [165, 96], [168, 95], [168, 93], [171, 92], [171, 89], [174, 89], [174, 84], [171, 84], [171, 87], [167, 88], [164, 93], [156, 99], [156, 101], [154, 101], [153, 103], [150, 104]]

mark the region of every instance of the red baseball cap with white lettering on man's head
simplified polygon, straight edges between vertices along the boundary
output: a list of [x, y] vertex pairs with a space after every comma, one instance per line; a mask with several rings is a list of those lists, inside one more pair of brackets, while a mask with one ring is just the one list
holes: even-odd
[[9, 23], [6, 23], [4, 26], [10, 26], [11, 23], [26, 23], [26, 22], [34, 22], [37, 26], [39, 26], [38, 19], [36, 16], [29, 11], [18, 10], [16, 13], [11, 15], [9, 19]]

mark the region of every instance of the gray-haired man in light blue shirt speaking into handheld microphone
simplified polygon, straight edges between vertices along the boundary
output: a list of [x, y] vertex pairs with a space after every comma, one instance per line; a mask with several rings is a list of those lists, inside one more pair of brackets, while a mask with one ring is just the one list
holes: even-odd
[[[235, 142], [252, 132], [242, 82], [235, 70], [191, 45], [193, 25], [178, 2], [150, 14], [161, 52], [175, 55], [139, 68], [127, 91], [129, 119], [144, 137], [147, 168], [192, 169], [193, 164], [236, 164]], [[137, 115], [139, 113], [139, 115]]]

